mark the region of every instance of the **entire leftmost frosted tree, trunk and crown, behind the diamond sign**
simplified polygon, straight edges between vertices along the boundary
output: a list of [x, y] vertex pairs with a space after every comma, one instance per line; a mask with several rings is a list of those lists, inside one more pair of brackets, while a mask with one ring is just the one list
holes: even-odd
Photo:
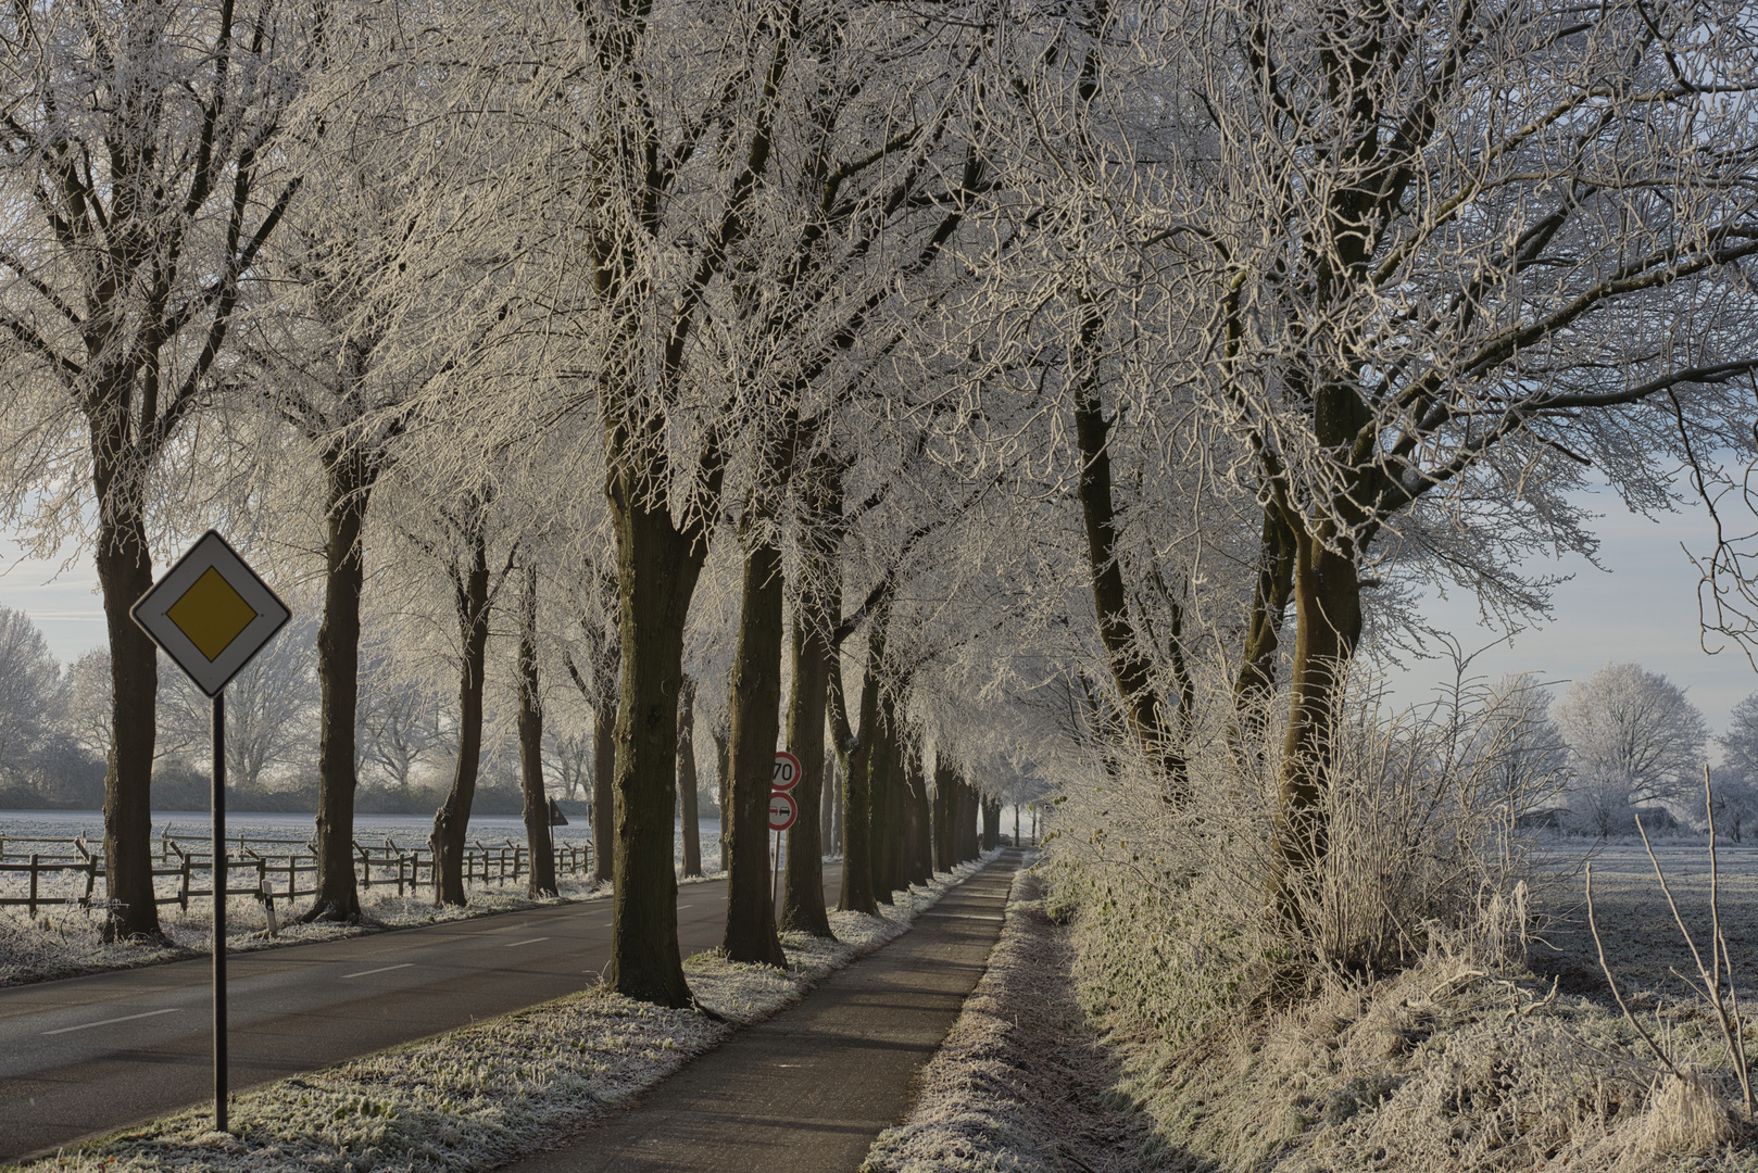
[[158, 681], [153, 642], [128, 616], [153, 584], [153, 477], [223, 373], [243, 281], [299, 186], [274, 174], [269, 146], [301, 40], [271, 0], [0, 16], [0, 186], [19, 209], [0, 253], [7, 505], [18, 521], [49, 489], [47, 517], [32, 521], [76, 524], [69, 463], [90, 477], [114, 677], [104, 851], [120, 936], [158, 936]]

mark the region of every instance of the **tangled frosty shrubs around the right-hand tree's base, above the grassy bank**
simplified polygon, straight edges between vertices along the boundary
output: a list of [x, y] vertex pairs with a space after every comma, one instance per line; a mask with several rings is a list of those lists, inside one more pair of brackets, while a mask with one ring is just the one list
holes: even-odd
[[1268, 911], [1280, 726], [1273, 712], [1234, 719], [1215, 684], [1201, 710], [1224, 716], [1187, 747], [1190, 804], [1169, 807], [1139, 763], [1104, 747], [1057, 798], [1046, 867], [1053, 904], [1079, 909], [1088, 1011], [1188, 1039], [1336, 974], [1392, 973], [1436, 930], [1524, 950], [1529, 844], [1515, 820], [1561, 783], [1559, 761], [1524, 744], [1524, 684], [1461, 681], [1392, 716], [1371, 689], [1352, 693], [1324, 776], [1329, 849], [1296, 885], [1299, 932]]

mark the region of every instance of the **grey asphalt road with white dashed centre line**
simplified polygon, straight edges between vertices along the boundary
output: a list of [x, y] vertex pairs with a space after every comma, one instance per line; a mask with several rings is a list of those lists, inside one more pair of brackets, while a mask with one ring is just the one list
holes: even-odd
[[[833, 897], [840, 865], [825, 865]], [[679, 888], [686, 957], [726, 883]], [[610, 962], [610, 902], [547, 906], [227, 960], [230, 1089], [547, 1002]], [[207, 958], [0, 990], [0, 1162], [213, 1103]]]

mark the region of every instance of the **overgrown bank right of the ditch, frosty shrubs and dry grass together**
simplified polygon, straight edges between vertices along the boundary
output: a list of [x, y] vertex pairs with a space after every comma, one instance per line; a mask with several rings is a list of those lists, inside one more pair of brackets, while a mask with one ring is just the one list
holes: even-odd
[[1199, 730], [1176, 812], [1115, 760], [1065, 788], [1044, 871], [1079, 1001], [1169, 1147], [1241, 1171], [1758, 1169], [1711, 1032], [1663, 1078], [1631, 1022], [1522, 967], [1517, 816], [1559, 776], [1519, 700], [1343, 714], [1301, 934], [1268, 911], [1268, 735]]

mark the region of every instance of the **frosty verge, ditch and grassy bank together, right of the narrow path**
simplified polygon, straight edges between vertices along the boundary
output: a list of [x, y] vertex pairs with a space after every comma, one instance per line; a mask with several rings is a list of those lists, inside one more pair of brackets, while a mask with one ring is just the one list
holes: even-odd
[[[1623, 904], [1661, 900], [1637, 855], [1653, 893], [1635, 860], [1595, 865], [1609, 950], [1623, 943], [1605, 925], [1602, 869], [1619, 876]], [[1707, 883], [1707, 860], [1661, 863], [1670, 881], [1695, 871]], [[1130, 937], [1106, 909], [1078, 911], [1074, 930], [1057, 925], [1034, 885], [1016, 881], [988, 973], [923, 1071], [911, 1117], [879, 1138], [863, 1173], [1758, 1169], [1758, 1131], [1730, 1111], [1739, 1089], [1702, 1004], [1640, 1001], [1675, 1078], [1602, 999], [1554, 990], [1484, 936], [1450, 932], [1396, 974], [1334, 980], [1275, 1009], [1211, 1016], [1210, 1001], [1192, 1001], [1178, 1025], [1197, 1031], [1180, 1036], [1118, 1004], [1081, 1011], [1074, 948], [1088, 967], [1095, 953], [1116, 965]], [[1723, 855], [1723, 923], [1728, 890]], [[1661, 936], [1638, 944], [1672, 948]], [[1733, 948], [1751, 973], [1754, 953]], [[1751, 1027], [1746, 1041], [1753, 1050]]]

